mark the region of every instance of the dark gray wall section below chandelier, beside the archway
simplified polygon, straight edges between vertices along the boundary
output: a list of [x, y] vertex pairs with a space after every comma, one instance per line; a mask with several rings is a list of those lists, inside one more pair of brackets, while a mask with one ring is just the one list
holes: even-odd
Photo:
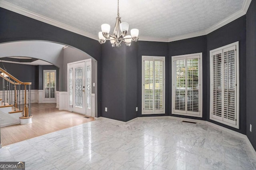
[[124, 44], [114, 48], [110, 42], [102, 45], [102, 117], [118, 121], [126, 121], [125, 51]]

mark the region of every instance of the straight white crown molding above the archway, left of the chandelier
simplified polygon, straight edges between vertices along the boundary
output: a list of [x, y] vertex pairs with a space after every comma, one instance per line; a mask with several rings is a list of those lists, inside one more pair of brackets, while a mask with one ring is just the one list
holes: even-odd
[[92, 38], [94, 40], [98, 40], [98, 37], [93, 35], [93, 34], [90, 34], [88, 32], [84, 32], [82, 30], [79, 30], [79, 29], [74, 28], [72, 26], [69, 26], [67, 24], [63, 24], [62, 22], [58, 22], [56, 20], [52, 20], [51, 18], [48, 18], [48, 17], [42, 16], [40, 14], [37, 14], [35, 12], [26, 10], [24, 8], [21, 8], [19, 6], [16, 6], [16, 5], [11, 4], [9, 2], [6, 2], [4, 0], [0, 1], [0, 7], [4, 8], [6, 10], [10, 10], [12, 12], [16, 12], [16, 13], [21, 14], [21, 15], [27, 16], [29, 18], [33, 18], [35, 20], [38, 20], [38, 21], [41, 21], [41, 22], [45, 22], [45, 23], [50, 24], [52, 26], [56, 26], [56, 27], [62, 28], [64, 30], [68, 30], [70, 32], [74, 32], [76, 34], [80, 34], [82, 36], [86, 36], [88, 38]]

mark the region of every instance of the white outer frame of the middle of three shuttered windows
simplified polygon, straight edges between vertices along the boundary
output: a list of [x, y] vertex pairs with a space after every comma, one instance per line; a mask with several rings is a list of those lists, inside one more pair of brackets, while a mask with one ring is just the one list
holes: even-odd
[[[174, 61], [175, 61], [175, 59], [176, 58], [183, 58], [183, 59], [185, 59], [185, 60], [187, 60], [188, 58], [192, 58], [192, 57], [194, 57], [194, 56], [196, 56], [196, 57], [198, 57], [199, 56], [199, 94], [200, 94], [200, 99], [199, 99], [199, 115], [196, 115], [196, 114], [192, 114], [192, 113], [188, 113], [187, 111], [186, 111], [186, 109], [185, 109], [185, 112], [187, 112], [187, 113], [177, 113], [177, 112], [174, 112], [174, 97], [175, 97], [175, 88], [174, 88], [174, 80], [175, 80], [175, 78], [174, 78], [174, 76], [175, 76], [175, 72], [176, 72], [176, 70], [174, 70], [175, 69], [175, 67], [174, 67]], [[172, 114], [173, 115], [184, 115], [184, 116], [192, 116], [192, 117], [203, 117], [203, 114], [202, 114], [202, 112], [203, 112], [203, 107], [202, 107], [202, 100], [203, 100], [203, 78], [202, 78], [202, 75], [203, 75], [203, 71], [202, 71], [202, 67], [203, 67], [203, 65], [202, 65], [202, 56], [203, 56], [203, 53], [192, 53], [192, 54], [185, 54], [185, 55], [175, 55], [175, 56], [172, 56], [171, 58], [172, 58], [172, 103], [171, 103], [171, 105], [172, 105]], [[186, 70], [187, 70], [187, 68], [186, 68]], [[187, 106], [186, 106], [187, 107]]]

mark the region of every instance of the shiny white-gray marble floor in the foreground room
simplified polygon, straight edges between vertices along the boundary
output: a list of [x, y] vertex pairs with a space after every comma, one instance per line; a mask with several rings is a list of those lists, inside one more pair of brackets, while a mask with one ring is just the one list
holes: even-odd
[[0, 161], [25, 161], [26, 170], [256, 169], [245, 139], [172, 119], [92, 121], [5, 146]]

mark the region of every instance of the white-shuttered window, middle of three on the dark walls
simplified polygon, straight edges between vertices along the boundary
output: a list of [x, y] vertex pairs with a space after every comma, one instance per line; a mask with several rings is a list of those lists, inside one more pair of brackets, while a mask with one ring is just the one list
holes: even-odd
[[172, 114], [202, 117], [202, 53], [172, 56]]

